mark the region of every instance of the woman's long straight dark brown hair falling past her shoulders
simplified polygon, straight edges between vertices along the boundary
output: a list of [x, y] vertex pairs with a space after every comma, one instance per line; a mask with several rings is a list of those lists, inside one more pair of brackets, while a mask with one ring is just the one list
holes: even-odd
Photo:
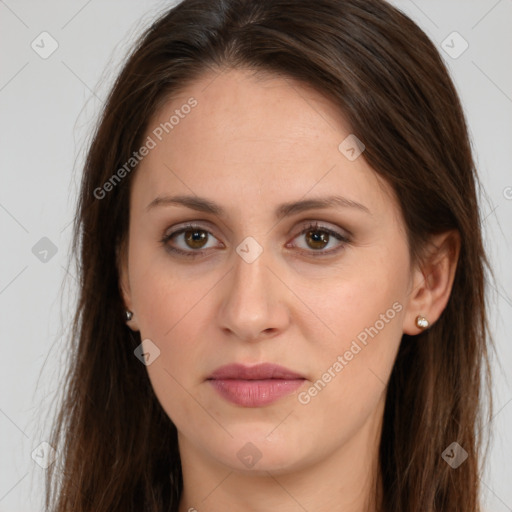
[[[73, 247], [79, 301], [46, 480], [55, 512], [177, 511], [176, 428], [160, 406], [140, 336], [124, 322], [118, 256], [133, 175], [101, 188], [143, 143], [159, 107], [206, 71], [251, 68], [331, 99], [399, 200], [413, 256], [457, 230], [461, 251], [439, 320], [403, 336], [380, 444], [386, 512], [477, 512], [482, 389], [489, 386], [487, 260], [464, 114], [423, 31], [382, 0], [185, 0], [143, 34], [117, 78], [86, 159]], [[95, 193], [96, 191], [96, 193]], [[441, 456], [457, 442], [457, 469]]]

